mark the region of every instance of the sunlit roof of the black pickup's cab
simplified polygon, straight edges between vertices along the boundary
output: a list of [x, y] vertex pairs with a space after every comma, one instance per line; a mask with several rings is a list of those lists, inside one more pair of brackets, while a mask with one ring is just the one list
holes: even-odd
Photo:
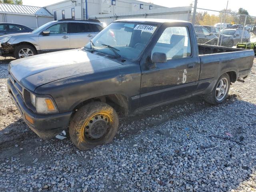
[[188, 21], [183, 20], [172, 20], [172, 19], [146, 19], [146, 18], [138, 18], [138, 19], [120, 19], [115, 20], [114, 22], [139, 22], [139, 23], [174, 23], [174, 22], [182, 22], [182, 23], [189, 23]]

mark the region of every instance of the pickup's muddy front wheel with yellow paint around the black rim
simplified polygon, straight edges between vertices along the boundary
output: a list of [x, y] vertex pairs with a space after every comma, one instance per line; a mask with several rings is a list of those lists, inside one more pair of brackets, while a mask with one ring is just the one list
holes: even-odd
[[92, 102], [76, 111], [69, 125], [72, 142], [80, 150], [110, 143], [118, 130], [118, 115], [103, 102]]

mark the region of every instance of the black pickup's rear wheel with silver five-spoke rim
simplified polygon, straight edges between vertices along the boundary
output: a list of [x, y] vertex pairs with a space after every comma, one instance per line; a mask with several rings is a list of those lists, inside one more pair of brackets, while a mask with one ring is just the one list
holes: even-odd
[[212, 92], [204, 95], [204, 99], [206, 102], [210, 104], [218, 105], [227, 98], [229, 88], [230, 77], [228, 74], [225, 73], [222, 76], [220, 76]]

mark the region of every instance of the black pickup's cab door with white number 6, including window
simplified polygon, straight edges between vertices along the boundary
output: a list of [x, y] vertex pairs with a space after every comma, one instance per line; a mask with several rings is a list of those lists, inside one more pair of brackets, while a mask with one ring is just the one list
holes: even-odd
[[196, 49], [195, 45], [192, 49], [189, 26], [170, 26], [162, 31], [151, 56], [154, 52], [165, 53], [167, 62], [155, 63], [155, 67], [151, 69], [144, 70], [141, 67], [142, 108], [186, 98], [196, 90], [198, 57], [196, 52], [192, 51]]

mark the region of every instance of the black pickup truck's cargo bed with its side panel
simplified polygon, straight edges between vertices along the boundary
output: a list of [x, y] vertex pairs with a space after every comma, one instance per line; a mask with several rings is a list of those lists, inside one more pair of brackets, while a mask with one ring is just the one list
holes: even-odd
[[198, 88], [195, 94], [211, 92], [218, 78], [228, 72], [231, 82], [246, 78], [254, 60], [253, 50], [241, 50], [198, 44], [201, 62]]

